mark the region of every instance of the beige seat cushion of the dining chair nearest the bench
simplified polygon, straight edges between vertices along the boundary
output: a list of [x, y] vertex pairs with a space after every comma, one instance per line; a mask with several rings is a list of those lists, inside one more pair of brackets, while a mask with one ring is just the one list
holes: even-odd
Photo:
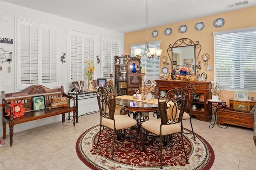
[[[114, 119], [116, 123], [116, 130], [133, 127], [137, 124], [134, 119], [124, 115], [114, 115]], [[102, 120], [102, 125], [114, 129], [114, 120], [104, 118]]]

